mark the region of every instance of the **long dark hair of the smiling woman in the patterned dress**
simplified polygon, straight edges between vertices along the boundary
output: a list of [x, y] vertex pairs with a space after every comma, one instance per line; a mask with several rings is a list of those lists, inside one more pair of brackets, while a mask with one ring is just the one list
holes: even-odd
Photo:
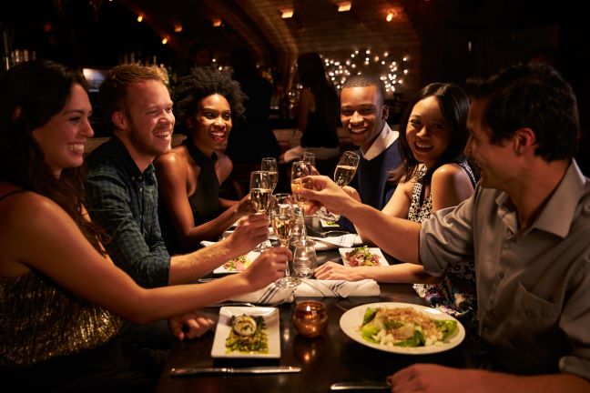
[[[451, 83], [432, 83], [423, 87], [408, 103], [400, 122], [399, 150], [402, 164], [395, 168], [390, 174], [390, 180], [394, 183], [406, 182], [414, 176], [420, 164], [412, 154], [408, 145], [406, 128], [413, 107], [424, 98], [436, 97], [441, 107], [442, 116], [451, 127], [449, 146], [447, 146], [436, 165], [429, 167], [423, 183], [430, 184], [432, 173], [443, 164], [458, 163], [465, 160], [463, 149], [467, 143], [469, 134], [467, 132], [467, 114], [469, 113], [469, 97], [460, 86]], [[473, 168], [473, 166], [472, 166]]]

